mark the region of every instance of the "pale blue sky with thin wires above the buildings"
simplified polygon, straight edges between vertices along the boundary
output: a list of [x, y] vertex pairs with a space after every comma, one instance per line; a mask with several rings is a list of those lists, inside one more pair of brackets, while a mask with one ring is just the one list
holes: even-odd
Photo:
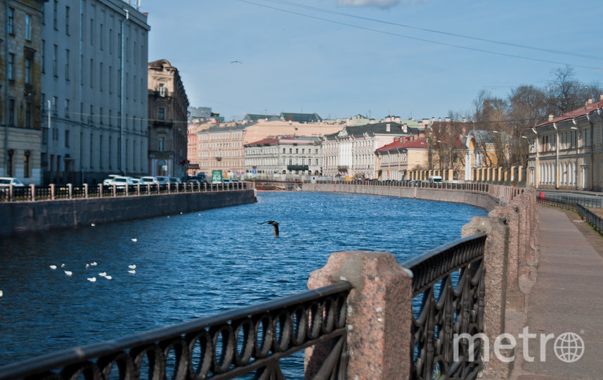
[[170, 61], [190, 105], [226, 120], [301, 110], [420, 119], [470, 112], [482, 89], [506, 97], [520, 84], [543, 87], [565, 64], [581, 82], [603, 83], [603, 7], [595, 3], [143, 0], [141, 11], [149, 13], [149, 61]]

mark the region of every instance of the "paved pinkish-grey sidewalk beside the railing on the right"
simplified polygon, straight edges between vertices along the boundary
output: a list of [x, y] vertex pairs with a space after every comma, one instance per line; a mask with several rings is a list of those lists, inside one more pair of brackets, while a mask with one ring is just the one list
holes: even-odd
[[[529, 339], [529, 356], [534, 360], [525, 360], [524, 354], [518, 360], [519, 374], [514, 374], [519, 375], [518, 380], [603, 379], [603, 258], [576, 228], [583, 223], [580, 217], [542, 206], [538, 213], [538, 279], [529, 294], [524, 323], [530, 334], [537, 334]], [[593, 242], [603, 244], [603, 238]], [[556, 339], [566, 332], [578, 334], [584, 341], [583, 356], [576, 362], [557, 357]], [[541, 334], [554, 334], [544, 350]], [[521, 344], [518, 339], [517, 345]]]

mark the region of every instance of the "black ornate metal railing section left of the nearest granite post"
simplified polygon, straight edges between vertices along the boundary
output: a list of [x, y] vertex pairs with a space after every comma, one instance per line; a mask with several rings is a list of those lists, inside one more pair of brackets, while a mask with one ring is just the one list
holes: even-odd
[[[0, 367], [9, 379], [285, 379], [279, 360], [331, 342], [318, 374], [346, 379], [346, 299], [351, 284], [294, 294], [105, 343]], [[300, 369], [300, 372], [303, 368]]]

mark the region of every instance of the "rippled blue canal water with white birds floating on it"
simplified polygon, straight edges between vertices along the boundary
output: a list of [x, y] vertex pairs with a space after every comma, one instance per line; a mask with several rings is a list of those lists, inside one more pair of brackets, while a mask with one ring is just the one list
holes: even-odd
[[[257, 200], [0, 238], [0, 365], [305, 291], [331, 252], [382, 251], [403, 262], [486, 215], [358, 194], [259, 192]], [[267, 220], [279, 222], [279, 239], [258, 224]]]

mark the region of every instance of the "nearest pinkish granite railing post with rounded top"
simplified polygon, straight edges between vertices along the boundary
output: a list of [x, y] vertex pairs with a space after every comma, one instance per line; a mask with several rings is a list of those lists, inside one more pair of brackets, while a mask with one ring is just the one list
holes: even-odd
[[[335, 252], [310, 274], [308, 288], [349, 281], [347, 379], [408, 379], [412, 368], [412, 274], [389, 253]], [[330, 342], [306, 348], [306, 379], [313, 379]]]

